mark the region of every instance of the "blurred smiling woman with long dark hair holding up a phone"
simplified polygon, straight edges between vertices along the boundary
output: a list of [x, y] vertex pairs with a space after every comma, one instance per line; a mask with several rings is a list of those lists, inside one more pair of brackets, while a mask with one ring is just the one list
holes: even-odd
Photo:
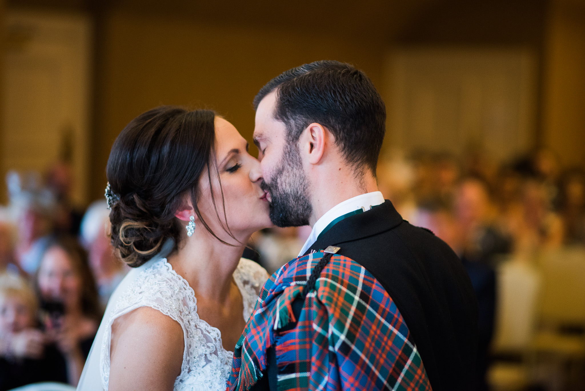
[[101, 319], [85, 250], [71, 237], [57, 237], [44, 253], [36, 284], [47, 339], [63, 356], [68, 382], [77, 385]]

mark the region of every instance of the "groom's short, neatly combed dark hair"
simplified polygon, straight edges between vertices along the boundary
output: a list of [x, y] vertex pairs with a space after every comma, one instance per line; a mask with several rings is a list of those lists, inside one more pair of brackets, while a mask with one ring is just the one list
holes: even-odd
[[288, 142], [297, 142], [311, 123], [327, 128], [349, 164], [364, 165], [376, 175], [386, 132], [386, 106], [365, 73], [338, 61], [304, 64], [274, 77], [254, 98], [277, 91], [274, 118], [287, 127]]

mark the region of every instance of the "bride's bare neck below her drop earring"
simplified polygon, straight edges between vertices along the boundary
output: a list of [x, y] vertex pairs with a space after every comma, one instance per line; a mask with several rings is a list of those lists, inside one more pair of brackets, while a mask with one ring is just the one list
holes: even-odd
[[199, 298], [225, 301], [243, 249], [243, 245], [228, 246], [207, 232], [200, 232], [192, 237], [185, 236], [167, 261], [187, 280]]

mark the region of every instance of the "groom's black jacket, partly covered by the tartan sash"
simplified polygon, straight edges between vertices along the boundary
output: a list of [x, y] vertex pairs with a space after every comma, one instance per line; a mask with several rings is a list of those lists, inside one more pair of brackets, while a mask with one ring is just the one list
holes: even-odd
[[[388, 294], [406, 322], [433, 391], [471, 390], [477, 349], [477, 300], [453, 250], [426, 229], [403, 220], [388, 200], [346, 217], [307, 250], [338, 246]], [[253, 390], [276, 389], [276, 358], [267, 351], [265, 376]]]

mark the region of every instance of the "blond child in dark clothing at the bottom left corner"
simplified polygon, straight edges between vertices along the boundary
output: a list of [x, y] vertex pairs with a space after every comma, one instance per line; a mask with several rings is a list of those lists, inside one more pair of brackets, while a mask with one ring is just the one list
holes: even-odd
[[45, 346], [37, 328], [37, 307], [35, 293], [25, 281], [0, 282], [0, 391], [36, 382], [67, 382], [59, 352]]

